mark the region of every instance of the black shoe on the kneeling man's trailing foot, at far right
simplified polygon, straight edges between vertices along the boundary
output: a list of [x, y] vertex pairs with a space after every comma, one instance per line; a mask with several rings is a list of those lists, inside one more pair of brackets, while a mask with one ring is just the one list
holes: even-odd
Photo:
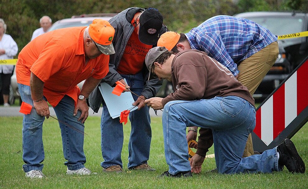
[[279, 166], [286, 166], [291, 173], [305, 173], [305, 163], [298, 155], [293, 142], [286, 138], [277, 147]]

